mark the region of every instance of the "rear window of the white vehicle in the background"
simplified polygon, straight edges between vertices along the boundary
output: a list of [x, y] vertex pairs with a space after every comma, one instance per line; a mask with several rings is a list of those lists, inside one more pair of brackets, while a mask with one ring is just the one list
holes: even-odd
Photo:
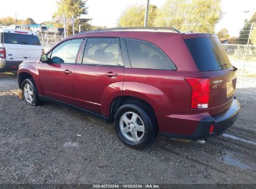
[[4, 44], [16, 44], [16, 45], [41, 45], [37, 35], [27, 35], [27, 34], [4, 33], [3, 42]]

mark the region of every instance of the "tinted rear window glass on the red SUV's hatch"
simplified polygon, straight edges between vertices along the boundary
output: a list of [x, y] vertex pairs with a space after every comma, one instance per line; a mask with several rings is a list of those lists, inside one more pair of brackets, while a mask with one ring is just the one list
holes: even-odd
[[184, 40], [199, 71], [225, 70], [232, 67], [217, 37]]

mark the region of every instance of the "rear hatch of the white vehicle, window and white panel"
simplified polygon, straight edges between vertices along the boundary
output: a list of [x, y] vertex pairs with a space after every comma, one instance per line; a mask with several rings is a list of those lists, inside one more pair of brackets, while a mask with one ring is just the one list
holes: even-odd
[[19, 32], [4, 32], [2, 41], [6, 48], [6, 60], [21, 62], [39, 58], [42, 47], [37, 35]]

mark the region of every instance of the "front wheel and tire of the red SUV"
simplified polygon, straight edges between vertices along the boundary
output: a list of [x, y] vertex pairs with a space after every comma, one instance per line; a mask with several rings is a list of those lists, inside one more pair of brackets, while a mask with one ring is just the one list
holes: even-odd
[[32, 78], [28, 78], [22, 82], [21, 90], [26, 104], [31, 106], [38, 106], [40, 104], [37, 88]]

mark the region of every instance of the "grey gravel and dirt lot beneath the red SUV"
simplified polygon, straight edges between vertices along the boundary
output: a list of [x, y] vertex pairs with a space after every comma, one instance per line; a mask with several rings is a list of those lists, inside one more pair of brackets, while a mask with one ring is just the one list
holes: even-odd
[[238, 79], [242, 109], [225, 136], [204, 145], [158, 137], [146, 150], [123, 145], [111, 124], [28, 106], [17, 91], [16, 76], [0, 74], [0, 183], [256, 184], [256, 78]]

